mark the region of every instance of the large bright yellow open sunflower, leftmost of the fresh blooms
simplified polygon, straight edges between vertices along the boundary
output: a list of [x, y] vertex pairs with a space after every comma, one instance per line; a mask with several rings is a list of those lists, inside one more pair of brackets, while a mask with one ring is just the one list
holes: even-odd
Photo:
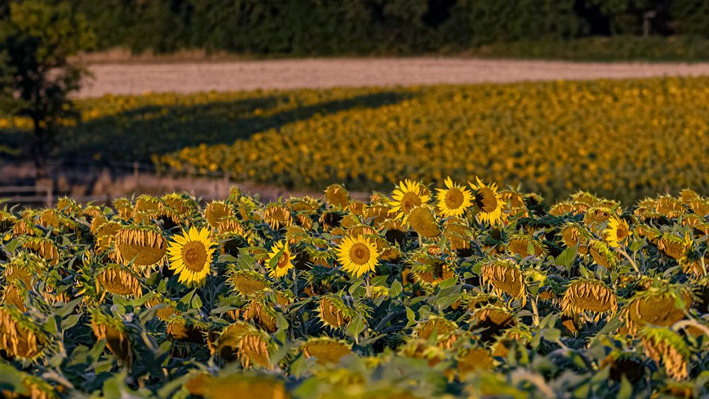
[[179, 282], [196, 283], [201, 285], [209, 273], [209, 265], [216, 245], [209, 238], [209, 229], [197, 230], [190, 227], [189, 232], [182, 230], [182, 235], [173, 237], [167, 253], [169, 254], [169, 268], [179, 274]]

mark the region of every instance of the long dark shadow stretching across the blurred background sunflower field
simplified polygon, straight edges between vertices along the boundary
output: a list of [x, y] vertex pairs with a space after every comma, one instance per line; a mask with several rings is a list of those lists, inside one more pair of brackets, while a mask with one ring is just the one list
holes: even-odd
[[[231, 144], [317, 114], [351, 108], [378, 108], [411, 96], [413, 93], [386, 91], [308, 106], [289, 103], [288, 96], [264, 96], [199, 106], [146, 106], [62, 130], [57, 136], [55, 157], [145, 162], [152, 154], [164, 154], [201, 143]], [[278, 111], [274, 108], [287, 109]], [[0, 137], [3, 135], [18, 136], [0, 130]]]

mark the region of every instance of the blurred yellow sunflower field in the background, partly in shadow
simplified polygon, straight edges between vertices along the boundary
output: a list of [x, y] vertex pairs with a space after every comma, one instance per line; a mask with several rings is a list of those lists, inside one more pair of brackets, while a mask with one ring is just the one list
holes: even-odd
[[[152, 159], [165, 171], [316, 191], [479, 174], [549, 201], [579, 190], [626, 205], [686, 187], [709, 193], [708, 77], [77, 101], [82, 123], [57, 137], [57, 157]], [[23, 156], [28, 123], [0, 120], [0, 153]]]

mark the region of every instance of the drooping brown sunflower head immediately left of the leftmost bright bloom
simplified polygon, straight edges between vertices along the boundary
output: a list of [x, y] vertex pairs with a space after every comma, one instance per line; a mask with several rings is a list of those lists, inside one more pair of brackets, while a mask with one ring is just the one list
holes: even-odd
[[162, 264], [167, 241], [156, 227], [128, 225], [116, 233], [116, 258], [136, 266]]

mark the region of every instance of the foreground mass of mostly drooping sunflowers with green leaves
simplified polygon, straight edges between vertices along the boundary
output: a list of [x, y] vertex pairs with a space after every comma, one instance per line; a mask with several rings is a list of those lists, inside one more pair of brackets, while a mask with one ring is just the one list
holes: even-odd
[[0, 213], [5, 395], [709, 395], [709, 198], [405, 180]]

